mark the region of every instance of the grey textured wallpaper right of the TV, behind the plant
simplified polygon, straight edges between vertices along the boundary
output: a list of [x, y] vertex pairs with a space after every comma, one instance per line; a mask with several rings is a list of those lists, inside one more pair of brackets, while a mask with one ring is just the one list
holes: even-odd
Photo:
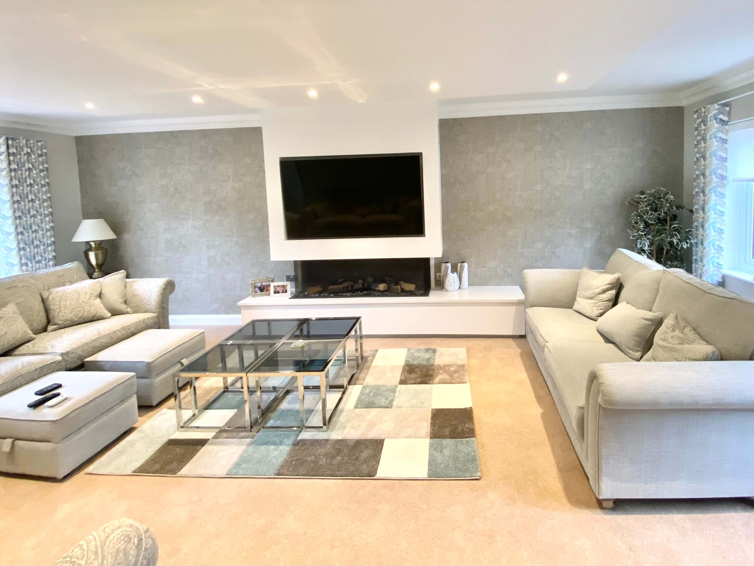
[[628, 198], [664, 186], [682, 201], [683, 109], [440, 120], [440, 167], [442, 261], [467, 261], [470, 285], [602, 269], [631, 246]]

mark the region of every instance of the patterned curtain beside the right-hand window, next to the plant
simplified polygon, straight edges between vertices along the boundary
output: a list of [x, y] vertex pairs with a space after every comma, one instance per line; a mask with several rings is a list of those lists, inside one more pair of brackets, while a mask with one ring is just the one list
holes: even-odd
[[730, 103], [694, 111], [694, 275], [722, 285]]

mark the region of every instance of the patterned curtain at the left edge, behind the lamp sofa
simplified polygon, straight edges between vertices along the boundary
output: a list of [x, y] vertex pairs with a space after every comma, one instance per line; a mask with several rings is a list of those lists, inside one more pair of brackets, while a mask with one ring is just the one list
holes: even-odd
[[0, 276], [54, 265], [47, 145], [0, 137]]

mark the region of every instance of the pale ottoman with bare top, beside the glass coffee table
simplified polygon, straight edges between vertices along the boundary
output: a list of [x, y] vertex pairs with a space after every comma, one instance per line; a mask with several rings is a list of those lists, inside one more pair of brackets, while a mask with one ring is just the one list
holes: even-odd
[[204, 352], [204, 331], [143, 331], [84, 360], [85, 371], [133, 371], [139, 405], [157, 405], [173, 393], [173, 374]]

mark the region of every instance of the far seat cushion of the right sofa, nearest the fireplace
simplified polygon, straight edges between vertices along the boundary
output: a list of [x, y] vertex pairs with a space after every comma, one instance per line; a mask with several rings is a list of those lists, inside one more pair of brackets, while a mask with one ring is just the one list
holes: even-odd
[[535, 342], [542, 349], [548, 342], [607, 342], [597, 332], [596, 321], [580, 315], [574, 309], [530, 306], [526, 309], [526, 322]]

